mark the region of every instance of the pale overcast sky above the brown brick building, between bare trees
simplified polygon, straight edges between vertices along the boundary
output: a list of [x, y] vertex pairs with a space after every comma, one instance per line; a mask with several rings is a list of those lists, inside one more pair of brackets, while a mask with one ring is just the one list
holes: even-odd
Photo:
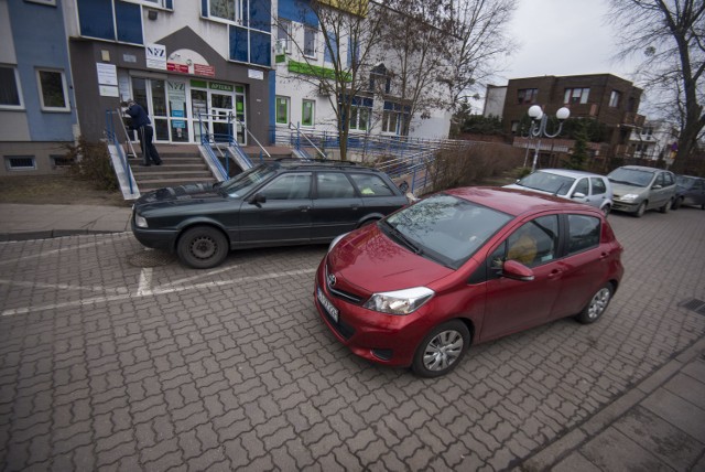
[[633, 65], [612, 61], [614, 26], [607, 23], [607, 0], [518, 0], [508, 29], [519, 49], [506, 58], [509, 78], [609, 73], [632, 81]]

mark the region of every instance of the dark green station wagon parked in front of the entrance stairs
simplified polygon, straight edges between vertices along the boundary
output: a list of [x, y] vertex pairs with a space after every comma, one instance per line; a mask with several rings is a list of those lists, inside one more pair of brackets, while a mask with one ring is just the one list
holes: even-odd
[[189, 267], [223, 262], [231, 249], [328, 243], [408, 204], [383, 172], [340, 162], [282, 161], [216, 184], [142, 195], [132, 233]]

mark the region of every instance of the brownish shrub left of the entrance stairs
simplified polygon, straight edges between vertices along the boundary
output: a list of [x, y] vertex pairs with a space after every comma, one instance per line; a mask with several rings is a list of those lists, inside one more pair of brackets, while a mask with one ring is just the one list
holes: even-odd
[[78, 139], [78, 144], [66, 146], [66, 159], [73, 160], [69, 173], [75, 179], [91, 182], [97, 190], [118, 190], [118, 179], [105, 142]]

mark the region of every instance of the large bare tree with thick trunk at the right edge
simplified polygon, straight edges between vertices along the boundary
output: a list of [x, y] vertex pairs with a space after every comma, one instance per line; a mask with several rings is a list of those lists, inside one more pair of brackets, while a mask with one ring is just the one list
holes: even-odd
[[610, 15], [622, 39], [621, 57], [643, 53], [639, 67], [647, 90], [664, 97], [680, 124], [682, 171], [705, 127], [705, 0], [611, 0]]

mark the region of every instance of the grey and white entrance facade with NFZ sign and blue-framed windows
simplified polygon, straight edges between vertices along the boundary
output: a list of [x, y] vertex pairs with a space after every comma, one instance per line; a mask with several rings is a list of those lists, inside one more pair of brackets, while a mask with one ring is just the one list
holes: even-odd
[[[208, 15], [206, 2], [172, 2], [162, 0], [164, 8], [126, 3], [117, 0], [66, 0], [69, 18], [72, 65], [76, 75], [77, 103], [82, 133], [89, 140], [100, 139], [106, 127], [107, 110], [119, 108], [121, 100], [134, 95], [134, 79], [139, 77], [159, 84], [184, 87], [185, 105], [176, 105], [167, 96], [165, 115], [156, 115], [155, 103], [148, 103], [156, 142], [197, 142], [196, 106], [193, 87], [237, 88], [243, 94], [243, 109], [235, 100], [231, 111], [245, 121], [252, 135], [263, 144], [269, 143], [269, 101], [271, 84], [270, 23], [245, 30], [236, 22], [226, 22]], [[250, 6], [270, 2], [252, 1]], [[173, 8], [172, 8], [173, 7]], [[254, 7], [251, 7], [253, 9]], [[257, 15], [252, 12], [250, 23]], [[108, 15], [105, 18], [105, 15]], [[268, 13], [269, 14], [269, 13]], [[247, 24], [247, 21], [245, 21]], [[261, 23], [261, 22], [260, 22]], [[113, 28], [112, 25], [116, 25]], [[258, 23], [259, 24], [259, 23]], [[242, 31], [260, 43], [243, 43]], [[262, 44], [265, 53], [262, 53]], [[152, 61], [153, 45], [163, 47], [161, 61]], [[257, 46], [257, 47], [256, 47]], [[258, 61], [251, 63], [249, 61]], [[113, 65], [118, 84], [106, 93], [99, 84], [98, 67]], [[149, 100], [148, 100], [149, 101]], [[145, 105], [145, 104], [141, 104]], [[154, 105], [154, 106], [153, 106]], [[212, 105], [212, 104], [209, 104]], [[205, 111], [205, 108], [198, 108]], [[240, 115], [241, 111], [241, 115]], [[164, 127], [161, 127], [165, 124]], [[184, 125], [185, 124], [185, 125]], [[178, 127], [178, 136], [175, 131]], [[171, 129], [171, 131], [165, 131]], [[184, 135], [181, 133], [184, 130]], [[215, 132], [215, 131], [214, 131]], [[191, 133], [191, 135], [188, 135]], [[183, 136], [189, 136], [184, 140]], [[240, 142], [249, 143], [245, 132]]]

